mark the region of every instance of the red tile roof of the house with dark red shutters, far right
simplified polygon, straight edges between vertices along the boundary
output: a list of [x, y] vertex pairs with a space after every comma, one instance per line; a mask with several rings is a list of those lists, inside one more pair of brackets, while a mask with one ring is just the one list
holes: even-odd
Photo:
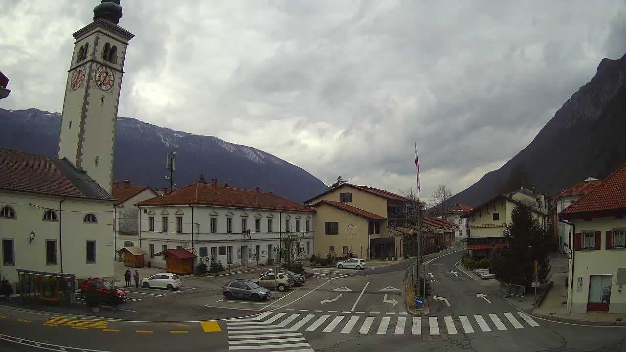
[[565, 208], [565, 219], [626, 214], [626, 163], [608, 175], [593, 190]]

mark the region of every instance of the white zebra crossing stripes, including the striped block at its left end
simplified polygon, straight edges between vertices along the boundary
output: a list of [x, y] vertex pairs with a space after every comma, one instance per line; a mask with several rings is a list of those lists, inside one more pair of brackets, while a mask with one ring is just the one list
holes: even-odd
[[[289, 348], [307, 347], [309, 344], [302, 333], [322, 332], [340, 334], [376, 335], [455, 335], [459, 333], [490, 333], [505, 330], [534, 328], [539, 326], [535, 319], [525, 313], [492, 313], [473, 316], [362, 316], [304, 313], [265, 312], [254, 318], [238, 318], [227, 321], [228, 339], [231, 349], [279, 348], [278, 344], [289, 344]], [[502, 318], [502, 319], [501, 319]], [[254, 339], [254, 340], [253, 340]], [[239, 346], [250, 341], [250, 346]], [[265, 344], [269, 345], [265, 345]]]

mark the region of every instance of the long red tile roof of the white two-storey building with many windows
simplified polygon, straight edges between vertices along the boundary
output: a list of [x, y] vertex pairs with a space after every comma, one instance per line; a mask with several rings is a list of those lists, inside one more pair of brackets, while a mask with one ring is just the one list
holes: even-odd
[[161, 197], [143, 200], [136, 205], [181, 205], [203, 204], [222, 207], [252, 208], [252, 209], [275, 209], [292, 210], [297, 212], [316, 212], [314, 209], [305, 207], [290, 200], [279, 197], [269, 192], [256, 190], [237, 189], [218, 185], [195, 183], [164, 194]]

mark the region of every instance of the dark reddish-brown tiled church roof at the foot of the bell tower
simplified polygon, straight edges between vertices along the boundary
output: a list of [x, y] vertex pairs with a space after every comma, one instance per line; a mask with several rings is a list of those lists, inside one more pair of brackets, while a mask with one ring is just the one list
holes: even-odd
[[0, 148], [0, 189], [83, 199], [115, 200], [66, 159]]

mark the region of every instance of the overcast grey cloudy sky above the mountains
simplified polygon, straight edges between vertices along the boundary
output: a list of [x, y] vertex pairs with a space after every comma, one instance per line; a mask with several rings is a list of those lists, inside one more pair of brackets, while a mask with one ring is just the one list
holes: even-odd
[[[96, 0], [0, 2], [3, 108], [61, 111]], [[452, 4], [451, 4], [452, 3]], [[120, 116], [272, 153], [327, 184], [459, 192], [524, 148], [602, 58], [625, 1], [123, 0]]]

